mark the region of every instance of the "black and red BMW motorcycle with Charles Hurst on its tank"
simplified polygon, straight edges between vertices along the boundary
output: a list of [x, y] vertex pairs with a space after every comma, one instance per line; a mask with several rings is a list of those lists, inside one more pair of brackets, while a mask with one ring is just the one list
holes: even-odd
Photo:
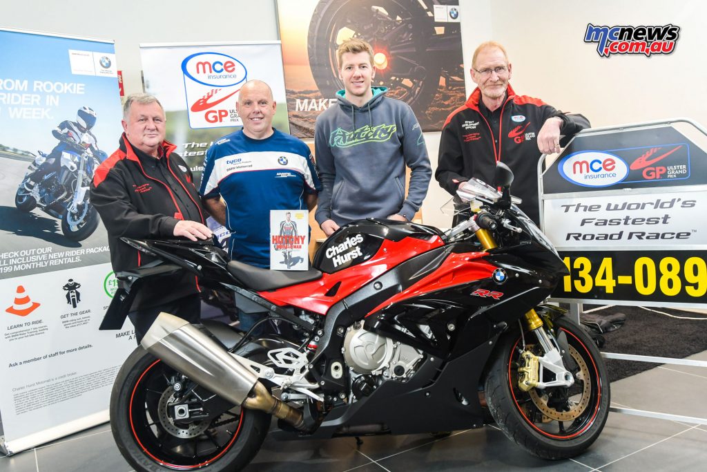
[[[531, 454], [597, 439], [609, 381], [591, 338], [538, 305], [566, 268], [503, 191], [460, 188], [474, 216], [443, 233], [367, 219], [342, 226], [311, 270], [277, 272], [183, 241], [124, 242], [155, 262], [119, 277], [102, 328], [119, 329], [141, 281], [189, 270], [267, 311], [277, 334], [162, 313], [122, 366], [112, 432], [137, 471], [233, 471], [271, 425], [281, 439], [462, 430], [495, 420]], [[485, 395], [488, 410], [480, 398]], [[490, 417], [489, 417], [490, 413]], [[493, 419], [491, 419], [491, 417]]]

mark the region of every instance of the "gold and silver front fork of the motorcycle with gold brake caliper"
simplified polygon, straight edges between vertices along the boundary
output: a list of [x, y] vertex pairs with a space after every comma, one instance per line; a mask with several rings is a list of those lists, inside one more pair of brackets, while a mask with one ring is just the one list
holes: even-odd
[[[476, 222], [470, 225], [469, 228], [474, 231], [481, 246], [486, 251], [498, 246], [491, 231], [480, 228]], [[538, 316], [534, 309], [530, 309], [530, 311], [525, 313], [523, 318], [527, 332], [534, 333], [544, 355], [534, 355], [525, 348], [525, 342], [523, 343], [523, 351], [520, 355], [520, 363], [522, 365], [518, 368], [518, 388], [522, 391], [529, 391], [531, 388], [569, 387], [574, 384], [574, 376], [565, 369], [562, 361], [559, 343], [547, 333], [542, 318]], [[569, 355], [568, 352], [566, 354]], [[542, 381], [545, 369], [555, 374], [554, 380]]]

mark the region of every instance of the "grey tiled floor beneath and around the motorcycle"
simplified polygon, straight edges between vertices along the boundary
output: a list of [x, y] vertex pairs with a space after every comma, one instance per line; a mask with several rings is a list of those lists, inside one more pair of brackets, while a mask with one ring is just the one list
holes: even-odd
[[[707, 361], [707, 351], [691, 359]], [[707, 418], [707, 369], [665, 366], [612, 384], [612, 404], [641, 410]], [[266, 471], [703, 471], [707, 464], [707, 426], [610, 413], [604, 432], [584, 454], [548, 462], [526, 454], [498, 428], [457, 431], [433, 439], [428, 434], [322, 441], [266, 439], [245, 470]], [[113, 443], [110, 427], [100, 425], [10, 457], [0, 472], [129, 472]]]

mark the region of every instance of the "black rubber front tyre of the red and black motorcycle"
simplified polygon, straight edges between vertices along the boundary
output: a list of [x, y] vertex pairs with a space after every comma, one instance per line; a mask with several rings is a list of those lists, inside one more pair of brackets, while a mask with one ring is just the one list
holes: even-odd
[[[597, 401], [595, 395], [591, 404], [586, 407], [594, 408], [595, 415], [588, 422], [588, 427], [585, 427], [585, 430], [571, 439], [552, 439], [547, 434], [541, 434], [521, 413], [514, 395], [518, 395], [518, 392], [521, 392], [520, 395], [522, 395], [522, 391], [516, 385], [515, 393], [513, 393], [510, 389], [511, 380], [509, 379], [511, 362], [514, 362], [511, 355], [520, 339], [518, 330], [507, 333], [499, 340], [486, 376], [485, 390], [486, 402], [491, 410], [491, 415], [509, 439], [534, 456], [559, 460], [581, 454], [599, 437], [609, 415], [610, 388], [606, 365], [589, 335], [567, 318], [556, 318], [553, 323], [556, 333], [559, 334], [561, 330], [566, 332], [569, 345], [577, 350], [578, 354], [587, 362], [588, 367], [595, 366], [594, 376], [592, 376], [595, 383], [592, 384], [592, 388], [598, 384], [599, 398]], [[530, 344], [537, 342], [537, 339], [532, 333], [525, 333], [525, 342]], [[589, 369], [591, 373], [592, 367]], [[596, 382], [597, 379], [598, 382]]]

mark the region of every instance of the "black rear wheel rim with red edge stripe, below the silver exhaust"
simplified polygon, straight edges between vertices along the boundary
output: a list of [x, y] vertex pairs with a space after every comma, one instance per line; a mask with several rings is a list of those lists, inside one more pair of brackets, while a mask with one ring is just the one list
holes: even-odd
[[208, 425], [194, 425], [193, 437], [177, 437], [174, 431], [165, 429], [159, 412], [160, 400], [171, 388], [170, 378], [175, 374], [159, 359], [145, 369], [130, 396], [129, 423], [144, 454], [163, 467], [189, 471], [213, 464], [233, 447], [245, 410], [228, 410]]

